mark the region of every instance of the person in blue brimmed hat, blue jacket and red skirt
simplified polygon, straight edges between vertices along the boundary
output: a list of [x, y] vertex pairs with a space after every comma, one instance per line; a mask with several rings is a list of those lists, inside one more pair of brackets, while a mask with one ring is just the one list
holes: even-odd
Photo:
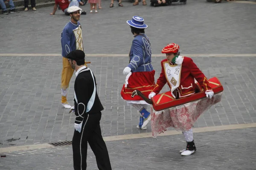
[[140, 112], [141, 116], [137, 128], [145, 130], [151, 119], [150, 112], [146, 110], [148, 103], [140, 96], [132, 98], [131, 94], [134, 90], [139, 90], [148, 96], [154, 88], [155, 71], [151, 65], [151, 45], [144, 31], [148, 26], [144, 23], [144, 19], [139, 16], [132, 17], [132, 20], [128, 20], [127, 23], [131, 27], [134, 40], [129, 54], [129, 64], [123, 71], [126, 79], [121, 96], [128, 105]]

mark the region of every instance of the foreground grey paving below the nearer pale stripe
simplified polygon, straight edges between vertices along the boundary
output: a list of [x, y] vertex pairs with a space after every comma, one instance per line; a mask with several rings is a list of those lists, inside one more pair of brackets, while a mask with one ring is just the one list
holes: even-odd
[[[194, 133], [197, 151], [181, 156], [183, 135], [106, 142], [113, 170], [255, 170], [256, 128]], [[87, 169], [97, 170], [88, 147]], [[73, 169], [71, 146], [8, 153], [3, 170]]]

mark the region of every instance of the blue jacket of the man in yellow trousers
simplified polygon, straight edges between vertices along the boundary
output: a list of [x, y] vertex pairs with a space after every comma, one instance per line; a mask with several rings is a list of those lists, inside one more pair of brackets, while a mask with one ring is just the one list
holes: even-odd
[[71, 51], [76, 50], [76, 37], [73, 33], [73, 30], [80, 25], [77, 22], [77, 25], [71, 21], [64, 26], [63, 31], [61, 32], [61, 47], [62, 47], [62, 56], [66, 57]]

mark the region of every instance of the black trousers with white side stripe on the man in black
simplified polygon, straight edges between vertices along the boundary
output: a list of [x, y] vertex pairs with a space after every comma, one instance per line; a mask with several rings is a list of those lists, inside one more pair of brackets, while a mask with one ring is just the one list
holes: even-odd
[[87, 142], [96, 157], [99, 170], [112, 170], [107, 146], [102, 138], [99, 121], [101, 112], [90, 113], [84, 117], [81, 132], [75, 130], [72, 147], [74, 170], [86, 170]]

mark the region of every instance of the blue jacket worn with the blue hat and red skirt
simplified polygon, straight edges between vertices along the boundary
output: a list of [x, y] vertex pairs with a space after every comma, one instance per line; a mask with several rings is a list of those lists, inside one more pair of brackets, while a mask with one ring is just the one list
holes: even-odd
[[152, 71], [151, 45], [145, 34], [134, 37], [130, 51], [130, 62], [128, 65], [131, 72]]

